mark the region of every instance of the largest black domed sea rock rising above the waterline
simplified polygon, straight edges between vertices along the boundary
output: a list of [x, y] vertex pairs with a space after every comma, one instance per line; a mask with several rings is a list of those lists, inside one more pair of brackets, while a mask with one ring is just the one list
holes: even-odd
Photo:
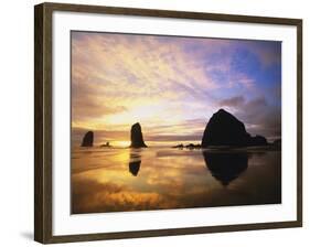
[[232, 114], [220, 109], [209, 120], [201, 146], [265, 146], [267, 140], [265, 137], [250, 137], [246, 131], [245, 125]]

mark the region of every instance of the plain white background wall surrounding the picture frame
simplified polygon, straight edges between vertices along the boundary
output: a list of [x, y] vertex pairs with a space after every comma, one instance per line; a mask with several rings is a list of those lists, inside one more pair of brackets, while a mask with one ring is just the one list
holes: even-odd
[[[63, 0], [63, 2], [67, 2]], [[124, 6], [186, 11], [240, 13], [303, 18], [303, 62], [309, 67], [310, 21], [307, 1], [276, 0], [111, 0], [76, 3]], [[0, 107], [1, 107], [1, 246], [39, 246], [33, 237], [33, 4], [39, 1], [8, 1], [1, 4], [0, 25]], [[303, 125], [309, 126], [309, 72], [303, 73]], [[308, 246], [309, 226], [309, 129], [303, 130], [304, 227], [295, 229], [253, 230], [195, 236], [77, 243], [65, 246]], [[63, 245], [57, 245], [63, 246]]]

